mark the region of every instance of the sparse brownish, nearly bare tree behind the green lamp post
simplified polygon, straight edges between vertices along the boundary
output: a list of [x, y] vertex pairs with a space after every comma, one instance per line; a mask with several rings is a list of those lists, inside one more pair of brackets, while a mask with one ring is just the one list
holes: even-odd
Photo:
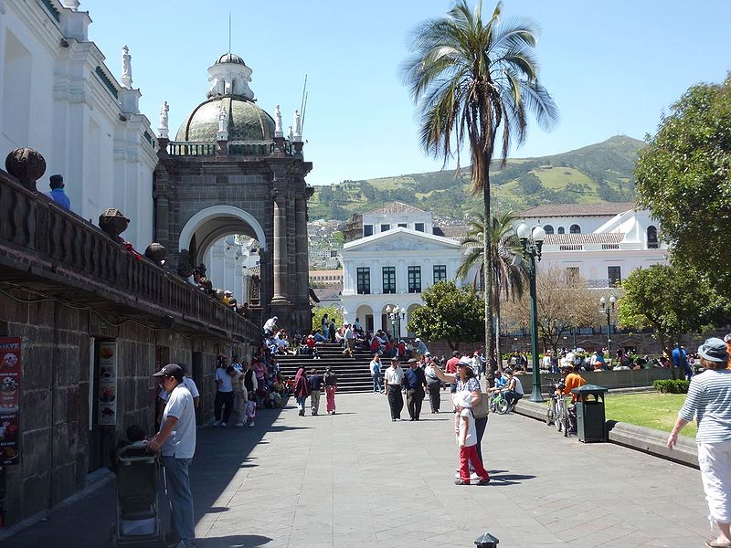
[[[599, 295], [587, 288], [586, 279], [560, 269], [539, 269], [535, 279], [538, 337], [554, 355], [564, 334], [579, 327], [599, 326]], [[530, 300], [505, 303], [503, 316], [514, 328], [530, 329]]]

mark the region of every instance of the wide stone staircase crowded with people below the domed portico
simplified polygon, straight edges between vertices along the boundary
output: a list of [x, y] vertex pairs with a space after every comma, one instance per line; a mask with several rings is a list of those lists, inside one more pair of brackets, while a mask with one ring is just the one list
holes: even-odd
[[[319, 360], [313, 360], [309, 355], [286, 355], [277, 356], [280, 364], [280, 372], [284, 377], [294, 378], [300, 365], [305, 366], [307, 374], [314, 367], [320, 374], [324, 374], [328, 367], [333, 368], [337, 375], [338, 392], [373, 392], [373, 379], [371, 379], [370, 362], [372, 354], [358, 350], [354, 351], [350, 358], [343, 354], [343, 347], [337, 342], [321, 342], [317, 345], [317, 352], [320, 353]], [[381, 371], [388, 366], [381, 362]]]

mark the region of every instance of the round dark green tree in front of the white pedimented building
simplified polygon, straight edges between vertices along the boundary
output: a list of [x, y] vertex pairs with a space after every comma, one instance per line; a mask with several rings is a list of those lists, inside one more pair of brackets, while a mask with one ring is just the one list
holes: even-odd
[[452, 350], [457, 350], [460, 342], [482, 339], [484, 308], [473, 290], [442, 280], [421, 293], [421, 299], [424, 306], [411, 314], [409, 332], [427, 341], [447, 341]]

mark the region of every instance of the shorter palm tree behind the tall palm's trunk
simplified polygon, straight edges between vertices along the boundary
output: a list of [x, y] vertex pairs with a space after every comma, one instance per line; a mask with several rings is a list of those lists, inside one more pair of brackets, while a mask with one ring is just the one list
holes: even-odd
[[[514, 257], [520, 256], [523, 249], [515, 237], [513, 225], [515, 218], [512, 212], [497, 214], [493, 216], [493, 222], [489, 227], [490, 233], [490, 259], [489, 264], [493, 273], [493, 313], [495, 317], [495, 354], [498, 356], [498, 369], [502, 371], [503, 355], [500, 351], [500, 300], [520, 299], [523, 296], [525, 284], [528, 283], [528, 270], [522, 261], [514, 263]], [[471, 229], [467, 237], [462, 240], [462, 246], [467, 248], [467, 253], [462, 259], [460, 268], [457, 269], [457, 276], [466, 278], [472, 267], [479, 265], [475, 271], [473, 285], [477, 285], [477, 279], [483, 272], [484, 245], [484, 217], [478, 216], [476, 221], [471, 221]]]

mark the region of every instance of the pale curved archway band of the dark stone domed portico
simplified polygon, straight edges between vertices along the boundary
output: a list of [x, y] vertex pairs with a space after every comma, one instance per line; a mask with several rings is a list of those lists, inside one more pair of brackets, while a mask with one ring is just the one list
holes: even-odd
[[195, 262], [218, 239], [236, 233], [256, 238], [260, 249], [267, 250], [267, 238], [259, 221], [248, 211], [233, 205], [212, 205], [190, 217], [180, 231], [178, 250], [190, 249], [195, 237], [196, 257], [191, 257]]

